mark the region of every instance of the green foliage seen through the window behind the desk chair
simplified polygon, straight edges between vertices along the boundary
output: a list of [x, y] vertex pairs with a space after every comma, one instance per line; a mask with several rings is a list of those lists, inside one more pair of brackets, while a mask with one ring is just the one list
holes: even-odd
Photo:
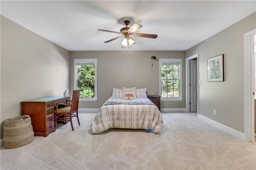
[[95, 65], [77, 65], [77, 89], [80, 98], [93, 98], [95, 85]]

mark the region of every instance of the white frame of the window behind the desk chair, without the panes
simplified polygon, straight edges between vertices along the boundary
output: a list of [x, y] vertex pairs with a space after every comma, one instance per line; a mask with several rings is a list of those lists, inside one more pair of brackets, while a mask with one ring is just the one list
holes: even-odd
[[[81, 63], [81, 64], [79, 64]], [[84, 64], [88, 63], [88, 64]], [[77, 65], [95, 65], [94, 67], [94, 97], [79, 98], [79, 101], [97, 101], [97, 59], [74, 59], [74, 89], [77, 89], [78, 70]]]

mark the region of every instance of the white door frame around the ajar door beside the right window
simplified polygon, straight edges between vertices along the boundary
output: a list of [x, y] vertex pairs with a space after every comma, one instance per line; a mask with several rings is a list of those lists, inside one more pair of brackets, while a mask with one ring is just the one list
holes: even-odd
[[[192, 55], [190, 57], [186, 58], [186, 112], [189, 112], [189, 99], [190, 99], [190, 86], [189, 86], [189, 82], [190, 82], [190, 60], [197, 58], [197, 80], [199, 81], [199, 56], [198, 53], [195, 55]], [[197, 83], [197, 117], [198, 117], [198, 113], [199, 113], [199, 83]]]

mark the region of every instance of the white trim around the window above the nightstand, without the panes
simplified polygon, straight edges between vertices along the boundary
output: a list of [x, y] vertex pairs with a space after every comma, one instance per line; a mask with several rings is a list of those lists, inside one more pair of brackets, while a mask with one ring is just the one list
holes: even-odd
[[182, 101], [182, 59], [159, 59], [159, 95], [162, 96], [162, 81], [161, 81], [161, 63], [162, 62], [179, 62], [179, 95], [180, 97], [162, 98], [161, 101]]

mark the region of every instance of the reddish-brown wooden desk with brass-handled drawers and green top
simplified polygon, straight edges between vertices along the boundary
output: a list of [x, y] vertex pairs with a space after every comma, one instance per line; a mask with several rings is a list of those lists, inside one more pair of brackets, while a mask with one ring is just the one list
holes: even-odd
[[21, 102], [21, 114], [31, 117], [31, 124], [35, 135], [48, 136], [55, 132], [54, 110], [56, 103], [66, 103], [70, 96], [48, 96]]

